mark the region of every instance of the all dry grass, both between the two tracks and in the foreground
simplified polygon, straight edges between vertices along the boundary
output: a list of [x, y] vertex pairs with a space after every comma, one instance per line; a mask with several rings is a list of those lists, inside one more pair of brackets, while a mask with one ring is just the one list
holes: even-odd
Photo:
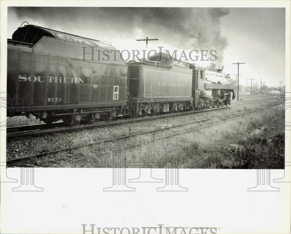
[[[223, 114], [234, 113], [243, 110], [251, 110], [256, 107], [265, 107], [265, 103], [256, 102], [251, 106], [238, 106], [232, 109], [224, 109], [221, 111], [213, 111], [210, 113], [201, 113], [196, 115], [189, 115], [190, 121], [197, 121], [205, 118], [222, 116]], [[244, 114], [250, 113], [249, 111]], [[193, 132], [191, 134], [180, 135], [178, 137], [185, 138], [188, 146], [179, 151], [181, 168], [252, 168], [255, 166], [248, 155], [241, 155], [241, 146], [245, 148], [246, 141], [249, 138], [256, 136], [271, 136], [273, 133], [268, 132], [264, 128], [266, 122], [265, 111], [246, 116], [237, 120], [232, 120], [226, 123], [219, 124], [219, 122], [233, 117], [222, 117], [220, 119], [212, 120], [212, 123], [217, 123], [210, 128]], [[275, 112], [274, 112], [275, 117]], [[184, 117], [186, 118], [186, 117]], [[191, 119], [192, 118], [192, 119]], [[171, 120], [171, 125], [181, 124], [181, 119]], [[181, 131], [181, 130], [179, 130]], [[179, 132], [178, 131], [178, 132]], [[96, 131], [94, 131], [95, 133]], [[97, 141], [103, 141], [108, 138], [117, 138], [120, 136], [129, 135], [128, 127], [108, 127], [100, 128], [99, 134], [92, 134], [92, 132], [84, 132], [82, 137], [71, 139], [72, 146], [88, 144]], [[136, 143], [141, 141], [149, 141], [150, 135], [133, 138]], [[174, 140], [169, 141], [169, 145], [175, 145]], [[122, 143], [120, 143], [122, 144]], [[115, 149], [120, 148], [116, 144]], [[56, 146], [47, 146], [43, 151], [50, 151], [57, 149]], [[104, 153], [107, 152], [107, 153]], [[64, 152], [55, 156], [56, 167], [112, 167], [112, 150], [109, 150], [103, 144], [96, 144], [93, 146], [82, 147], [70, 153]], [[104, 153], [100, 155], [100, 153]], [[160, 167], [172, 166], [165, 161], [165, 150], [157, 147], [156, 143], [145, 144], [139, 148], [127, 149], [127, 162], [143, 162], [141, 167]], [[248, 152], [249, 153], [249, 152]], [[53, 156], [54, 157], [54, 156]], [[46, 161], [47, 160], [47, 161]], [[281, 160], [278, 159], [277, 160]], [[155, 163], [155, 162], [164, 163]], [[39, 166], [45, 166], [49, 163], [49, 159], [40, 159]], [[49, 165], [49, 164], [48, 164]], [[50, 164], [51, 165], [51, 164]], [[137, 164], [128, 163], [128, 167], [137, 167]]]

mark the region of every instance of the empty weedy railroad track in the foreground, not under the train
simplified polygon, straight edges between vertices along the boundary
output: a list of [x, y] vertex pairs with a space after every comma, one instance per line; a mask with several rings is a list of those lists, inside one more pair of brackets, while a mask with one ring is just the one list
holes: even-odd
[[[194, 121], [194, 122], [190, 122], [190, 123], [184, 123], [184, 124], [175, 125], [175, 126], [171, 126], [171, 127], [164, 127], [164, 128], [161, 128], [161, 129], [156, 129], [156, 130], [151, 130], [151, 131], [145, 131], [145, 132], [139, 132], [139, 133], [131, 134], [131, 135], [127, 135], [127, 136], [121, 136], [121, 137], [118, 137], [118, 138], [114, 138], [114, 140], [115, 141], [121, 141], [121, 140], [125, 140], [125, 139], [128, 139], [128, 138], [133, 138], [133, 137], [136, 137], [136, 136], [141, 136], [141, 135], [146, 135], [146, 134], [162, 133], [162, 132], [165, 132], [165, 131], [168, 131], [168, 130], [173, 130], [173, 129], [176, 129], [176, 128], [185, 127], [187, 125], [189, 126], [189, 125], [193, 125], [193, 124], [197, 124], [197, 123], [204, 123], [204, 122], [207, 122], [207, 121], [210, 121], [210, 120], [213, 120], [213, 119], [217, 119], [217, 118], [222, 118], [222, 117], [226, 117], [226, 116], [232, 116], [232, 115], [235, 115], [235, 114], [241, 114], [241, 113], [246, 112], [246, 111], [258, 110], [258, 111], [255, 111], [255, 112], [252, 112], [252, 113], [249, 113], [249, 114], [246, 114], [246, 115], [242, 115], [242, 116], [239, 116], [239, 117], [231, 118], [231, 119], [224, 120], [224, 121], [221, 121], [221, 122], [218, 122], [218, 123], [212, 123], [212, 124], [209, 124], [209, 125], [197, 127], [195, 129], [193, 128], [193, 129], [186, 130], [186, 131], [182, 131], [182, 132], [178, 132], [178, 133], [175, 132], [173, 134], [170, 134], [170, 135], [167, 135], [167, 136], [163, 136], [163, 137], [159, 137], [159, 138], [154, 139], [154, 140], [144, 141], [144, 142], [135, 144], [133, 146], [123, 147], [123, 148], [116, 149], [116, 150], [127, 149], [127, 148], [136, 148], [138, 146], [141, 146], [141, 145], [150, 143], [152, 141], [157, 141], [159, 139], [169, 138], [169, 137], [173, 137], [173, 136], [178, 136], [178, 135], [187, 134], [187, 133], [190, 133], [190, 132], [202, 130], [202, 129], [205, 129], [207, 127], [211, 127], [211, 126], [214, 126], [214, 125], [217, 125], [217, 124], [225, 123], [225, 122], [228, 122], [228, 121], [231, 121], [231, 120], [243, 118], [245, 116], [249, 116], [249, 115], [258, 113], [262, 109], [264, 109], [264, 108], [257, 107], [257, 108], [254, 108], [254, 109], [248, 109], [248, 110], [244, 110], [244, 111], [230, 113], [230, 114], [226, 114], [226, 115], [222, 115], [222, 116], [217, 116], [217, 117], [214, 117], [214, 118], [206, 118], [206, 119], [203, 119], [203, 120], [198, 120], [198, 121]], [[109, 140], [104, 140], [104, 141], [97, 141], [97, 142], [93, 142], [93, 143], [89, 143], [89, 144], [83, 144], [83, 145], [79, 145], [79, 146], [73, 146], [73, 147], [70, 147], [70, 148], [65, 148], [65, 149], [59, 149], [59, 150], [44, 152], [44, 153], [40, 153], [40, 154], [36, 154], [36, 155], [28, 155], [28, 156], [19, 157], [19, 158], [16, 158], [16, 159], [9, 159], [9, 160], [6, 161], [6, 165], [7, 166], [13, 166], [13, 165], [17, 165], [17, 164], [26, 165], [26, 162], [29, 162], [29, 164], [31, 166], [31, 164], [33, 164], [32, 162], [33, 162], [34, 159], [40, 159], [42, 157], [47, 157], [49, 155], [56, 155], [58, 153], [68, 152], [68, 151], [76, 150], [76, 149], [79, 149], [79, 148], [82, 148], [82, 147], [86, 147], [86, 146], [93, 146], [93, 145], [98, 145], [98, 144], [101, 145], [101, 144], [104, 144], [104, 143], [106, 143], [108, 141], [111, 141], [111, 140], [109, 139]], [[108, 152], [103, 152], [103, 153], [98, 154], [97, 156], [101, 156], [101, 155], [104, 155], [104, 154], [107, 154], [107, 153]], [[81, 160], [84, 160], [84, 158], [74, 160], [73, 162], [77, 162], [77, 161], [81, 161]]]

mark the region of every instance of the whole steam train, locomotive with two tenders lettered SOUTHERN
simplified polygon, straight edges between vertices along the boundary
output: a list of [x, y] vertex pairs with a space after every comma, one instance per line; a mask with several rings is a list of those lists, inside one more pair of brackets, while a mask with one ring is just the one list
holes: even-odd
[[[19, 27], [7, 47], [10, 117], [25, 113], [48, 124], [73, 125], [221, 107], [235, 97], [230, 77], [221, 70], [210, 72], [160, 54], [125, 62], [109, 42], [40, 26]], [[117, 56], [92, 59], [85, 48]]]

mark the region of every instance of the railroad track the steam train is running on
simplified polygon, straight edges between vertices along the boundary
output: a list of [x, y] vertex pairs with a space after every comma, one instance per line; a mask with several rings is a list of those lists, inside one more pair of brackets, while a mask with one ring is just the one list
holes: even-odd
[[[212, 107], [211, 109], [177, 112], [177, 113], [171, 113], [171, 114], [162, 114], [162, 115], [158, 115], [158, 116], [145, 116], [144, 118], [139, 118], [138, 121], [145, 121], [145, 120], [152, 120], [152, 119], [156, 119], [156, 118], [167, 118], [167, 117], [174, 117], [174, 116], [180, 116], [180, 115], [186, 115], [186, 114], [227, 109], [227, 108], [235, 107], [238, 105], [250, 104], [250, 103], [254, 103], [254, 102], [261, 102], [261, 101], [264, 101], [266, 99], [267, 99], [267, 97], [256, 99], [256, 100], [236, 102], [236, 103], [233, 103], [227, 107], [226, 106], [218, 107], [218, 108]], [[53, 123], [54, 127], [52, 127], [52, 128], [45, 128], [47, 126], [46, 124], [15, 126], [15, 127], [8, 127], [7, 128], [6, 138], [8, 139], [8, 138], [18, 137], [18, 136], [27, 136], [27, 135], [36, 135], [36, 134], [51, 133], [51, 132], [63, 132], [63, 131], [69, 131], [69, 130], [92, 128], [92, 127], [118, 125], [118, 124], [123, 124], [123, 123], [132, 123], [133, 121], [135, 121], [135, 120], [132, 118], [126, 118], [126, 119], [118, 119], [118, 120], [109, 121], [109, 122], [79, 124], [79, 125], [74, 125], [74, 126], [63, 126], [63, 122], [58, 122], [58, 123]]]

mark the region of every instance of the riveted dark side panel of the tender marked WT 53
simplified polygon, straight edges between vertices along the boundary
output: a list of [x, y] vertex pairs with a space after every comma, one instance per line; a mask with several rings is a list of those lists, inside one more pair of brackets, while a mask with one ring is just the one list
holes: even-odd
[[82, 46], [47, 37], [33, 49], [8, 44], [8, 95], [22, 98], [24, 111], [121, 105], [127, 65], [118, 56], [82, 61]]

